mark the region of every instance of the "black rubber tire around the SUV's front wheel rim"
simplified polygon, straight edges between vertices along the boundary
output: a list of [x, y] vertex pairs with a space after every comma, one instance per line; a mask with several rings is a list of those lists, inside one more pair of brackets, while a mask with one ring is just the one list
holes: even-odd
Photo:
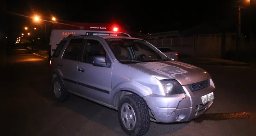
[[[135, 127], [132, 130], [126, 128], [121, 117], [122, 106], [129, 104], [135, 113]], [[146, 134], [149, 130], [150, 125], [150, 115], [148, 110], [148, 105], [145, 100], [138, 95], [126, 95], [124, 96], [118, 106], [118, 120], [123, 131], [131, 136], [142, 136]]]

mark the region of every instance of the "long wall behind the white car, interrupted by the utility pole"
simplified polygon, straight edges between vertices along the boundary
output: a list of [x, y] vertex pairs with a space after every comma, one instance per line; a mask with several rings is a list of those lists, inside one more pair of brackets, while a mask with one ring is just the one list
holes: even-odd
[[[235, 37], [235, 33], [226, 33], [226, 52], [236, 49]], [[151, 39], [146, 41], [155, 47], [168, 47], [180, 55], [221, 58], [222, 34], [194, 35], [193, 37]], [[241, 49], [245, 48], [243, 39], [241, 39]]]

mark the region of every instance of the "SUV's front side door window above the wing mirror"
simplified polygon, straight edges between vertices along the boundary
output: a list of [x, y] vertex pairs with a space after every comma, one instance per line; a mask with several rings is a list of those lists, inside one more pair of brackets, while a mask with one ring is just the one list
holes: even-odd
[[97, 40], [87, 40], [85, 44], [83, 62], [92, 64], [94, 56], [105, 56], [106, 51]]

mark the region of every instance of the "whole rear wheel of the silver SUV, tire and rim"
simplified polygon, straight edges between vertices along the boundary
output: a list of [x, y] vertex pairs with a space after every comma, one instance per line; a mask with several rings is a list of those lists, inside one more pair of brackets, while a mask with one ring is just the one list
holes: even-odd
[[53, 80], [53, 91], [58, 102], [67, 101], [70, 96], [70, 93], [66, 90], [58, 77]]

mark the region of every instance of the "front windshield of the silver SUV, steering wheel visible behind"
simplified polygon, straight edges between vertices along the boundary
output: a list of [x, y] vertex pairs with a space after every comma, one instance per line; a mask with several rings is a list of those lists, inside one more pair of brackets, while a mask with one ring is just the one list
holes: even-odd
[[106, 39], [114, 55], [121, 63], [170, 61], [149, 43], [138, 39]]

